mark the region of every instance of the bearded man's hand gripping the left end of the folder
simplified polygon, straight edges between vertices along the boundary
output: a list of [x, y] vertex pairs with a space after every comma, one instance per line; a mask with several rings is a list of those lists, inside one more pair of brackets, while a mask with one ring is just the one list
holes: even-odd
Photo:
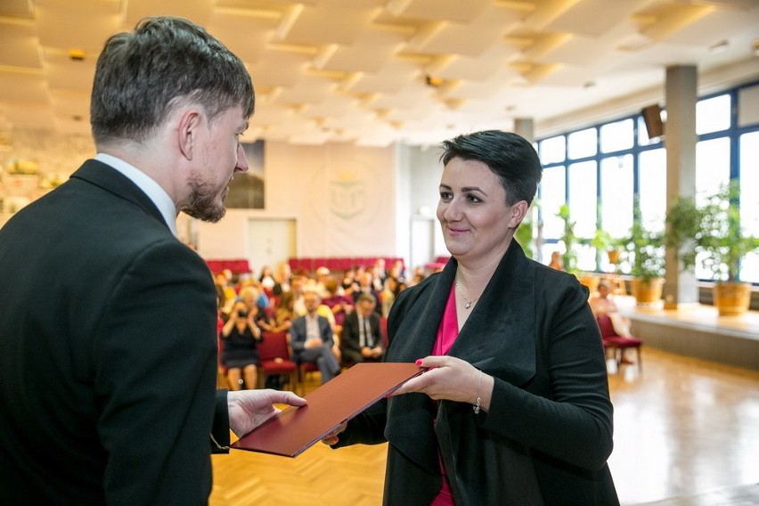
[[302, 406], [306, 399], [280, 390], [241, 390], [227, 393], [229, 406], [229, 428], [237, 436], [245, 436], [254, 428], [272, 418], [282, 410], [273, 404]]

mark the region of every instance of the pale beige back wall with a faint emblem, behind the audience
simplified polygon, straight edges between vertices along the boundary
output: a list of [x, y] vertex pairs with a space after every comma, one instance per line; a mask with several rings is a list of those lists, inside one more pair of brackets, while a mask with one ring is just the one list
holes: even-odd
[[[229, 209], [197, 226], [203, 257], [249, 257], [250, 216], [297, 220], [300, 257], [404, 256], [396, 237], [395, 147], [265, 143], [265, 209]], [[255, 266], [255, 265], [254, 265]]]

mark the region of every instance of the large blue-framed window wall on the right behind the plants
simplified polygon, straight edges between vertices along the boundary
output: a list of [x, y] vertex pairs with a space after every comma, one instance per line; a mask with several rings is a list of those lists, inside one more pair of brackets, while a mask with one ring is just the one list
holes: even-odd
[[[737, 179], [741, 224], [759, 235], [759, 83], [698, 100], [696, 130], [697, 199]], [[649, 139], [640, 114], [554, 135], [537, 145], [545, 167], [540, 192], [545, 262], [551, 250], [559, 249], [564, 224], [556, 215], [565, 203], [581, 242], [589, 242], [599, 229], [616, 239], [629, 235], [636, 201], [643, 227], [664, 232], [666, 138]], [[577, 253], [581, 270], [613, 267], [606, 255], [587, 246]], [[700, 267], [696, 274], [709, 277]], [[740, 279], [759, 283], [759, 256], [741, 265]]]

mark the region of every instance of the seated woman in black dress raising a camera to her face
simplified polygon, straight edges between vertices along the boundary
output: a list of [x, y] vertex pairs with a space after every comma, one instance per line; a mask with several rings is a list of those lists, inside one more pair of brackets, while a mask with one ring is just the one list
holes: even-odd
[[253, 322], [257, 308], [252, 311], [241, 299], [235, 301], [229, 320], [221, 331], [223, 344], [221, 362], [227, 368], [227, 381], [230, 390], [240, 390], [240, 380], [245, 388], [256, 388], [258, 350], [257, 342], [261, 340], [261, 330]]

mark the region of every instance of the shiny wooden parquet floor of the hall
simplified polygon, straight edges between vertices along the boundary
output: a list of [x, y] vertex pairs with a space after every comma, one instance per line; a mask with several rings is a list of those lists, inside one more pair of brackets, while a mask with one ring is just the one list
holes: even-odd
[[[609, 375], [615, 405], [615, 450], [609, 467], [620, 501], [633, 505], [679, 497], [678, 505], [759, 503], [759, 498], [689, 499], [722, 487], [759, 483], [759, 371], [645, 345], [642, 356], [642, 374], [627, 365]], [[331, 450], [319, 443], [295, 459], [236, 450], [215, 455], [209, 503], [378, 506], [386, 451], [386, 445]]]

